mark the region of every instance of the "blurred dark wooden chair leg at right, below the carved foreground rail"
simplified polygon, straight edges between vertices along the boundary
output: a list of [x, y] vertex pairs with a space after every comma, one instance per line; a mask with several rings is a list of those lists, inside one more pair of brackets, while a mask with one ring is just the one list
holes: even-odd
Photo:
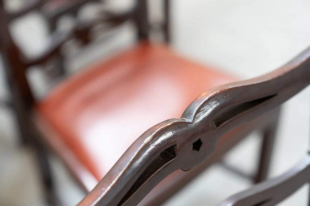
[[274, 120], [263, 130], [263, 142], [261, 144], [257, 174], [253, 179], [254, 183], [261, 182], [267, 178], [279, 122], [279, 114], [280, 109], [277, 109]]

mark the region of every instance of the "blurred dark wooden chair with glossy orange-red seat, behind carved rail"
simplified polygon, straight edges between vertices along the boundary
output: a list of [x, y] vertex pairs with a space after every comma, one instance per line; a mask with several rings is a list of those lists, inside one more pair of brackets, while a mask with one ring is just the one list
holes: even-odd
[[[55, 203], [57, 199], [53, 191], [47, 151], [51, 150], [60, 157], [81, 187], [88, 193], [104, 176], [109, 174], [106, 178], [110, 177], [112, 180], [111, 175], [114, 177], [118, 174], [117, 171], [113, 173], [114, 170], [110, 169], [144, 131], [166, 119], [179, 118], [187, 106], [208, 89], [236, 81], [236, 78], [231, 75], [186, 60], [168, 47], [171, 36], [168, 0], [163, 1], [165, 18], [161, 23], [148, 21], [147, 1], [139, 0], [131, 10], [121, 13], [105, 10], [92, 19], [77, 18], [73, 26], [64, 30], [57, 29], [58, 19], [67, 13], [76, 16], [79, 9], [89, 1], [31, 1], [16, 12], [7, 12], [3, 2], [0, 2], [1, 54], [11, 92], [11, 103], [6, 105], [10, 105], [16, 111], [24, 143], [32, 145], [38, 154], [50, 202]], [[27, 59], [13, 41], [9, 26], [15, 19], [22, 18], [24, 14], [35, 9], [42, 12], [43, 16], [49, 20], [53, 41], [50, 48], [40, 57]], [[25, 75], [29, 67], [44, 65], [56, 59], [56, 66], [60, 68], [59, 74], [64, 75], [66, 71], [63, 59], [66, 54], [62, 53], [62, 49], [66, 42], [75, 39], [86, 45], [92, 41], [94, 27], [101, 25], [104, 31], [108, 31], [127, 21], [132, 21], [136, 27], [137, 42], [134, 46], [65, 78], [44, 98], [40, 100], [34, 98], [29, 80]], [[151, 41], [152, 32], [158, 31], [163, 33], [164, 42], [162, 43]], [[232, 95], [236, 97], [232, 92], [232, 94], [228, 93], [226, 98], [229, 99]], [[213, 106], [215, 107], [216, 104], [214, 102]], [[235, 102], [231, 103], [231, 105], [234, 104]], [[231, 105], [226, 105], [226, 107], [229, 108]], [[210, 106], [210, 109], [213, 106]], [[184, 114], [188, 112], [185, 111]], [[257, 173], [248, 175], [231, 166], [226, 167], [241, 176], [252, 179], [253, 182], [264, 180], [268, 174], [278, 116], [279, 109], [277, 108], [258, 119], [244, 122], [246, 124], [243, 125], [239, 124], [240, 127], [233, 129], [220, 139], [215, 152], [206, 159], [203, 158], [204, 161], [199, 166], [188, 172], [182, 170], [173, 172], [160, 182], [139, 205], [163, 203], [209, 165], [220, 162], [228, 150], [254, 130], [261, 131], [263, 138]], [[222, 123], [221, 119], [215, 125], [209, 122], [203, 127], [204, 129], [200, 128], [200, 131], [196, 133], [208, 127], [219, 127]], [[173, 133], [173, 129], [170, 132]], [[147, 134], [148, 131], [144, 133], [144, 136]], [[183, 135], [185, 134], [187, 133]], [[143, 135], [140, 138], [143, 139]], [[203, 150], [206, 146], [214, 146], [208, 145], [209, 143], [201, 139], [195, 140], [191, 151], [198, 154], [201, 147]], [[170, 145], [163, 152], [166, 152], [168, 156], [175, 155], [178, 148], [174, 145]], [[129, 149], [127, 152], [132, 154], [133, 151]], [[206, 152], [210, 153], [208, 150]], [[126, 155], [122, 156], [122, 158], [126, 157]], [[151, 155], [148, 159], [155, 157]], [[162, 158], [162, 161], [166, 161], [165, 158]], [[142, 163], [138, 165], [140, 164]], [[157, 166], [155, 165], [152, 169], [154, 170]], [[148, 175], [152, 173], [143, 175], [150, 177]], [[157, 179], [158, 182], [160, 180], [161, 178]], [[153, 188], [152, 184], [149, 188]], [[102, 183], [97, 185], [97, 187], [100, 186]], [[140, 188], [141, 185], [135, 186]], [[136, 194], [136, 189], [133, 189], [134, 194]], [[115, 194], [118, 193], [115, 192]], [[129, 195], [131, 201], [137, 200], [132, 199], [131, 195]], [[94, 196], [88, 196], [88, 198], [91, 197]], [[124, 203], [126, 201], [124, 200]], [[127, 201], [126, 204], [129, 202]]]

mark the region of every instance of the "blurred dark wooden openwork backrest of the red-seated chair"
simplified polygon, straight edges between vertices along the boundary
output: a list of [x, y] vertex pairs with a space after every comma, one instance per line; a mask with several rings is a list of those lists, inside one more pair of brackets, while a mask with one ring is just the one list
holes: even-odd
[[[169, 41], [168, 10], [169, 2], [164, 0], [164, 13], [166, 18], [164, 22], [157, 26], [151, 26], [148, 22], [147, 0], [135, 1], [134, 8], [122, 13], [112, 11], [101, 11], [100, 14], [92, 19], [76, 19], [75, 24], [66, 30], [57, 30], [57, 21], [66, 14], [77, 16], [78, 11], [88, 2], [100, 2], [98, 0], [36, 0], [30, 1], [19, 11], [8, 12], [4, 8], [3, 0], [0, 0], [0, 51], [2, 54], [5, 71], [11, 90], [14, 87], [13, 96], [19, 96], [18, 101], [22, 101], [26, 107], [33, 104], [33, 93], [30, 89], [26, 71], [31, 66], [40, 66], [52, 59], [59, 59], [59, 67], [64, 67], [62, 46], [70, 39], [77, 39], [83, 45], [91, 42], [92, 28], [98, 24], [108, 25], [108, 30], [119, 26], [127, 20], [132, 20], [137, 28], [137, 39], [143, 40], [149, 38], [151, 29], [161, 29], [164, 32], [164, 38]], [[35, 59], [27, 59], [13, 41], [9, 31], [10, 24], [25, 14], [38, 10], [47, 19], [51, 31], [51, 44], [41, 56]], [[15, 98], [15, 97], [13, 97]], [[16, 97], [17, 98], [17, 97]]]

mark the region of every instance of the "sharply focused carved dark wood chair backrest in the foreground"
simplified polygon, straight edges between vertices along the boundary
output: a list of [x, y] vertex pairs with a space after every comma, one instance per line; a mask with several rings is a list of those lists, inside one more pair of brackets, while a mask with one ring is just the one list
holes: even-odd
[[[78, 205], [138, 204], [170, 173], [191, 170], [204, 161], [215, 151], [222, 135], [274, 109], [308, 86], [309, 71], [310, 48], [269, 74], [206, 91], [185, 109], [181, 118], [166, 120], [144, 132]], [[201, 147], [198, 152], [194, 150], [197, 143]], [[230, 199], [222, 205], [273, 205], [309, 180], [309, 163], [307, 156], [296, 169], [275, 182], [259, 185], [233, 199], [236, 201]], [[278, 192], [281, 186], [286, 188], [283, 193]], [[273, 189], [270, 193], [269, 188]], [[246, 199], [247, 196], [251, 197]]]

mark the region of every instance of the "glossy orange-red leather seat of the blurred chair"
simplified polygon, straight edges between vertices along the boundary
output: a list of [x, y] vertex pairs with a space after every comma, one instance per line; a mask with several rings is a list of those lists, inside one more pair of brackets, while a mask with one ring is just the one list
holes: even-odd
[[148, 128], [179, 118], [201, 93], [234, 80], [141, 42], [66, 79], [35, 110], [99, 181]]

